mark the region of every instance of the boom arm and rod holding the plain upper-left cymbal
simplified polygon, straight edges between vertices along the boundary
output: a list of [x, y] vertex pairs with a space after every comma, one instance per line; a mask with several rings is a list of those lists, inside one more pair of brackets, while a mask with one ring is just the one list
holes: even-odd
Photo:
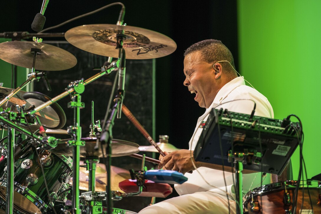
[[[42, 39], [36, 39], [35, 37], [33, 38], [36, 43], [42, 42]], [[7, 102], [10, 98], [12, 98], [15, 94], [17, 94], [20, 90], [22, 90], [26, 85], [28, 85], [30, 82], [34, 81], [35, 79], [40, 79], [40, 77], [45, 77], [46, 73], [45, 72], [35, 72], [35, 64], [36, 64], [36, 57], [37, 55], [41, 54], [41, 50], [38, 48], [31, 48], [30, 50], [31, 53], [33, 53], [33, 62], [32, 62], [32, 69], [31, 73], [28, 74], [28, 79], [23, 82], [18, 88], [13, 90], [8, 96], [3, 98], [0, 101], [0, 107]]]

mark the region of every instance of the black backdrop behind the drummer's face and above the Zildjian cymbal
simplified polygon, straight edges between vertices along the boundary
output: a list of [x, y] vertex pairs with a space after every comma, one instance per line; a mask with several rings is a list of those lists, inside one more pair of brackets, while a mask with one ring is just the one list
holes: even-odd
[[[88, 13], [112, 1], [50, 1], [45, 28]], [[177, 50], [156, 60], [156, 136], [168, 134], [178, 148], [187, 148], [197, 118], [204, 109], [183, 86], [183, 53], [203, 39], [220, 39], [230, 48], [238, 68], [236, 1], [122, 1], [125, 22], [163, 33], [177, 43]], [[29, 31], [42, 1], [4, 1], [0, 31]], [[113, 6], [48, 32], [65, 32], [82, 24], [116, 24], [120, 6]], [[131, 73], [127, 69], [127, 73]]]

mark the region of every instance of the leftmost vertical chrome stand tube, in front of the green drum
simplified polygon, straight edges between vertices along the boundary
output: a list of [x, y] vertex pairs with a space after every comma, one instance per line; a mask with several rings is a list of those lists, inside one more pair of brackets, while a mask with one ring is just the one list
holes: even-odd
[[6, 214], [13, 213], [14, 129], [8, 127], [8, 164]]

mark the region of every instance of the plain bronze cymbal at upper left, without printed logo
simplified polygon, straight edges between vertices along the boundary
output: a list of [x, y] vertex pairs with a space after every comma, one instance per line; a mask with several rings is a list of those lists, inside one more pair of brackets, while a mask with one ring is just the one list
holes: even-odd
[[64, 49], [45, 43], [33, 41], [8, 41], [0, 43], [0, 59], [25, 68], [32, 68], [33, 52], [31, 48], [40, 49], [35, 69], [43, 71], [61, 71], [72, 68], [77, 59]]

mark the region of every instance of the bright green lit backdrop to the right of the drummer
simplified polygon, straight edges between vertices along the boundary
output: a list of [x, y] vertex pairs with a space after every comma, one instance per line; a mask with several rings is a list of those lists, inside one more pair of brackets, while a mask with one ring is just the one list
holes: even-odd
[[[240, 72], [269, 99], [275, 118], [301, 119], [308, 178], [321, 173], [320, 11], [319, 0], [238, 0]], [[296, 180], [298, 150], [291, 159]]]

